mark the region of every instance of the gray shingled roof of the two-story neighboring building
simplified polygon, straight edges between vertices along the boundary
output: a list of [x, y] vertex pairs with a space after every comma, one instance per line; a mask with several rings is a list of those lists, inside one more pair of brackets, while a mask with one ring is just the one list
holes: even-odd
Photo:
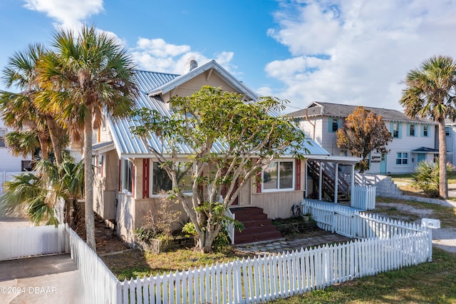
[[[348, 115], [353, 113], [353, 111], [358, 106], [351, 106], [340, 103], [327, 103], [327, 102], [317, 102], [314, 101], [309, 106], [299, 111], [294, 111], [289, 113], [289, 116], [296, 118], [314, 118], [316, 116], [331, 116], [338, 118], [346, 118]], [[430, 123], [436, 124], [434, 121], [422, 118], [408, 118], [404, 113], [397, 110], [390, 110], [388, 108], [373, 108], [365, 106], [366, 110], [373, 111], [377, 113], [378, 116], [382, 116], [385, 121], [406, 121], [406, 122], [420, 122], [420, 123]]]

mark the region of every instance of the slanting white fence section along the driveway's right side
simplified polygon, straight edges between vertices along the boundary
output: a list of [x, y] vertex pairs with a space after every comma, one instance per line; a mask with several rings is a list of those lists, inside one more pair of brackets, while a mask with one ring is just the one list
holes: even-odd
[[66, 225], [66, 233], [71, 244], [71, 258], [81, 272], [83, 303], [117, 303], [119, 280], [110, 272], [97, 253], [88, 247], [73, 229], [68, 228], [68, 225]]

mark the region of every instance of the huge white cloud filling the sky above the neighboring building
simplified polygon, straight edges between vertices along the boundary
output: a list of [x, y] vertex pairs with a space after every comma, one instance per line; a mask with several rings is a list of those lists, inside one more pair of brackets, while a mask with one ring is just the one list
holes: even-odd
[[[276, 96], [400, 109], [411, 69], [435, 54], [454, 57], [452, 1], [289, 0], [269, 35], [289, 48], [266, 73], [284, 83]], [[289, 111], [294, 111], [290, 108]]]

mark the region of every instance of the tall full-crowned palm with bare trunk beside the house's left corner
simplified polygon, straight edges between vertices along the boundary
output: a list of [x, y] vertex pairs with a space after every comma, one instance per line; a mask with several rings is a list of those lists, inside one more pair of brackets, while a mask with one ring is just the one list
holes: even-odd
[[134, 64], [113, 37], [83, 26], [78, 36], [60, 29], [53, 35], [53, 53], [40, 61], [38, 75], [46, 88], [42, 106], [59, 113], [73, 140], [81, 138], [86, 194], [87, 243], [95, 250], [93, 216], [93, 129], [100, 128], [103, 114], [126, 117], [134, 108], [137, 92], [133, 82]]

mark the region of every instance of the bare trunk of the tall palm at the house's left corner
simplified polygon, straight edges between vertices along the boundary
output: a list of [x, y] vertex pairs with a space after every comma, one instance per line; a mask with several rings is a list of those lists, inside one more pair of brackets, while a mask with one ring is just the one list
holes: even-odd
[[92, 172], [92, 108], [87, 106], [84, 118], [84, 192], [86, 194], [87, 245], [96, 251], [95, 217], [93, 216], [93, 172]]

